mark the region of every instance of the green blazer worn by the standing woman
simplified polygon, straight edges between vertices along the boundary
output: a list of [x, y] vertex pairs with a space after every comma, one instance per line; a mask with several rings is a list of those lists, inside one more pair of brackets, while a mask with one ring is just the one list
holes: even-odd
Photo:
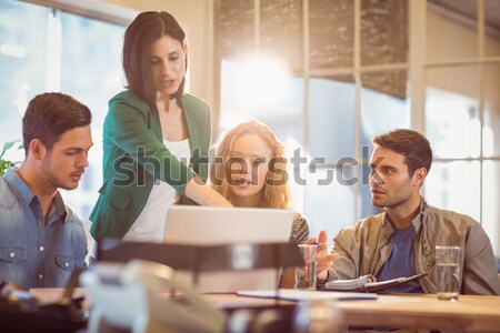
[[[160, 119], [144, 101], [128, 90], [110, 100], [102, 133], [103, 184], [90, 214], [94, 240], [123, 238], [144, 208], [154, 179], [169, 183], [181, 195], [197, 174], [207, 180], [210, 107], [188, 93], [181, 101], [191, 144], [191, 168], [164, 147]], [[192, 202], [183, 196], [181, 203]]]

